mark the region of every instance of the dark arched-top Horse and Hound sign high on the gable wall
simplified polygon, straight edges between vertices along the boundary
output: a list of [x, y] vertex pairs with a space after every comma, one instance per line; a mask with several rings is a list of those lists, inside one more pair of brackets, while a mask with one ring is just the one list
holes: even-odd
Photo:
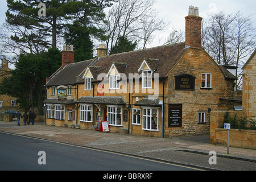
[[175, 90], [195, 90], [195, 78], [188, 74], [175, 76]]

